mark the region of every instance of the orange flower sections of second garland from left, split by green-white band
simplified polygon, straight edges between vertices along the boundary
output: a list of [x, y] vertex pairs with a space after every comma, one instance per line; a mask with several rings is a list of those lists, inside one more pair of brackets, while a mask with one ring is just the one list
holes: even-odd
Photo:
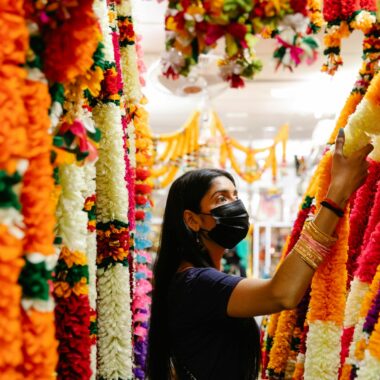
[[[29, 116], [30, 165], [25, 173], [21, 200], [26, 226], [24, 252], [54, 254], [53, 168], [48, 135], [50, 97], [47, 86], [27, 81], [24, 94]], [[53, 379], [57, 364], [53, 311], [30, 309], [22, 313], [24, 379]]]

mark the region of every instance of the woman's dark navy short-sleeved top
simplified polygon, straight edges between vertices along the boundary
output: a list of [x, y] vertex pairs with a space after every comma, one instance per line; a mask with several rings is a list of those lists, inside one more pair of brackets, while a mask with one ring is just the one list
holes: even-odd
[[242, 360], [249, 319], [227, 316], [227, 305], [242, 280], [214, 268], [177, 273], [169, 290], [172, 355], [191, 375], [180, 379], [244, 379]]

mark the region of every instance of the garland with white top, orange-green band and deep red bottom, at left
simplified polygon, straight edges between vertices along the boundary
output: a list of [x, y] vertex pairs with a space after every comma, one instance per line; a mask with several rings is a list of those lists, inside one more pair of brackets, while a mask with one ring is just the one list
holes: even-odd
[[55, 269], [54, 295], [58, 379], [90, 379], [90, 305], [88, 298], [87, 222], [83, 211], [84, 168], [59, 168], [61, 196], [57, 208], [57, 236], [63, 246]]

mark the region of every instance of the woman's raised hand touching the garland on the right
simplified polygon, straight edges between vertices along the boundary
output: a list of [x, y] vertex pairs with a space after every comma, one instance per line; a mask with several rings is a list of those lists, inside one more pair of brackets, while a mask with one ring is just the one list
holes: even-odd
[[367, 178], [369, 164], [366, 159], [373, 150], [373, 146], [368, 144], [350, 157], [345, 157], [343, 154], [344, 143], [344, 131], [340, 129], [335, 142], [331, 183], [327, 194], [328, 198], [338, 203], [342, 208], [346, 206], [351, 195]]

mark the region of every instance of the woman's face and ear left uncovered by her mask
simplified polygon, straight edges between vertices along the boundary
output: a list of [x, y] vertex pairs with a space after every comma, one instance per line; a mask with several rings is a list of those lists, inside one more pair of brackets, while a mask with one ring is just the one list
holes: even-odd
[[217, 177], [212, 181], [209, 190], [201, 200], [200, 213], [185, 211], [186, 224], [194, 231], [211, 230], [215, 227], [215, 219], [211, 215], [204, 214], [210, 214], [212, 209], [234, 202], [237, 199], [238, 194], [235, 185], [227, 177]]

